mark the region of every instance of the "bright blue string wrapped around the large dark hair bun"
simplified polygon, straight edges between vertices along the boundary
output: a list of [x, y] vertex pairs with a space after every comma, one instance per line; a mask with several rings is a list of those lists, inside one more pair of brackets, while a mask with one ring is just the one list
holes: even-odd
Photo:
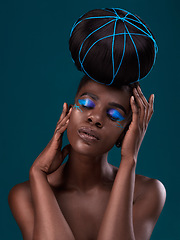
[[[105, 8], [102, 8], [102, 10], [111, 12], [111, 11], [109, 11], [108, 9], [105, 9]], [[134, 81], [134, 82], [131, 82], [131, 84], [132, 84], [132, 83], [135, 83], [135, 82], [138, 82], [138, 81], [144, 79], [144, 78], [147, 77], [147, 75], [150, 73], [150, 71], [152, 70], [152, 68], [153, 68], [153, 66], [154, 66], [154, 64], [155, 64], [156, 54], [157, 54], [157, 52], [158, 52], [158, 46], [157, 46], [156, 41], [155, 41], [155, 39], [153, 38], [151, 32], [148, 30], [148, 28], [146, 27], [146, 25], [145, 25], [144, 23], [142, 23], [142, 21], [140, 21], [140, 19], [139, 19], [137, 16], [135, 16], [134, 14], [132, 14], [132, 13], [130, 13], [130, 12], [124, 10], [124, 9], [121, 9], [121, 8], [112, 8], [112, 10], [114, 11], [115, 16], [87, 17], [87, 18], [82, 19], [82, 20], [80, 20], [80, 21], [78, 21], [78, 22], [75, 22], [74, 25], [73, 25], [73, 27], [72, 27], [72, 29], [71, 29], [70, 37], [71, 37], [71, 35], [72, 35], [72, 32], [73, 32], [74, 28], [75, 28], [79, 23], [81, 23], [82, 21], [85, 21], [85, 20], [88, 20], [88, 19], [109, 18], [110, 21], [108, 21], [107, 23], [103, 24], [102, 26], [100, 26], [99, 28], [97, 28], [96, 30], [94, 30], [93, 32], [91, 32], [91, 33], [84, 39], [84, 41], [82, 42], [82, 44], [81, 44], [81, 46], [80, 46], [80, 49], [79, 49], [79, 62], [80, 62], [80, 64], [81, 64], [81, 69], [82, 69], [82, 70], [84, 71], [84, 73], [85, 73], [86, 75], [88, 75], [92, 80], [94, 80], [94, 81], [96, 81], [96, 82], [99, 82], [99, 81], [97, 81], [96, 79], [94, 79], [93, 77], [91, 77], [91, 76], [88, 74], [88, 72], [84, 69], [83, 62], [84, 62], [84, 60], [85, 60], [88, 52], [91, 50], [91, 48], [92, 48], [97, 42], [99, 42], [99, 41], [101, 41], [101, 40], [103, 40], [103, 39], [105, 39], [105, 38], [112, 37], [112, 66], [113, 66], [113, 78], [112, 78], [112, 80], [111, 80], [111, 82], [110, 82], [109, 84], [106, 84], [106, 85], [111, 85], [111, 84], [114, 82], [114, 79], [115, 79], [115, 77], [116, 77], [116, 75], [117, 75], [117, 73], [118, 73], [118, 71], [119, 71], [119, 69], [120, 69], [120, 67], [121, 67], [121, 65], [122, 65], [122, 61], [123, 61], [124, 54], [125, 54], [125, 50], [126, 50], [126, 35], [129, 35], [129, 37], [130, 37], [130, 39], [131, 39], [131, 41], [132, 41], [132, 44], [134, 45], [135, 52], [136, 52], [137, 61], [138, 61], [138, 72], [139, 72], [139, 74], [138, 74], [138, 80], [136, 80], [136, 81]], [[125, 15], [124, 17], [120, 17], [120, 16], [117, 14], [116, 10], [122, 10], [122, 11], [126, 12], [126, 15]], [[112, 12], [111, 12], [111, 13], [112, 13]], [[84, 14], [83, 14], [83, 15], [84, 15]], [[81, 17], [82, 17], [83, 15], [81, 15]], [[81, 18], [81, 17], [80, 17], [80, 18]], [[133, 17], [133, 18], [135, 18], [135, 19], [132, 19], [131, 17]], [[116, 24], [117, 24], [117, 21], [118, 21], [119, 19], [124, 23], [124, 26], [125, 26], [125, 30], [124, 30], [123, 33], [115, 33], [115, 32], [116, 32]], [[130, 21], [131, 21], [131, 22], [130, 22]], [[105, 37], [103, 37], [103, 38], [98, 39], [96, 42], [94, 42], [94, 43], [89, 47], [89, 49], [87, 50], [87, 52], [86, 52], [86, 54], [84, 55], [83, 59], [81, 59], [80, 54], [81, 54], [81, 50], [82, 50], [82, 47], [83, 47], [83, 45], [84, 45], [84, 42], [85, 42], [93, 33], [95, 33], [95, 32], [98, 31], [99, 29], [105, 27], [106, 25], [108, 25], [108, 24], [110, 24], [110, 23], [112, 23], [112, 22], [114, 22], [114, 32], [113, 32], [113, 35], [108, 35], [108, 36], [105, 36]], [[133, 24], [132, 22], [134, 22], [134, 24]], [[129, 29], [128, 29], [127, 25], [126, 25], [126, 23], [134, 26], [135, 28], [137, 28], [138, 30], [140, 30], [141, 33], [130, 33], [130, 32], [129, 32]], [[143, 27], [146, 29], [146, 31], [144, 31], [144, 30], [141, 29], [140, 27], [136, 26], [135, 23], [138, 23], [138, 24], [140, 24], [141, 26], [143, 26]], [[122, 57], [121, 57], [119, 66], [118, 66], [118, 68], [117, 68], [117, 71], [115, 72], [115, 69], [114, 69], [114, 40], [115, 40], [115, 36], [119, 36], [119, 35], [124, 35], [124, 47], [123, 47], [123, 53], [122, 53]], [[153, 43], [154, 43], [154, 50], [155, 50], [154, 62], [153, 62], [153, 65], [152, 65], [150, 71], [149, 71], [149, 72], [146, 74], [146, 76], [144, 76], [143, 78], [140, 78], [140, 70], [141, 70], [141, 69], [140, 69], [139, 54], [138, 54], [138, 50], [137, 50], [136, 44], [135, 44], [135, 42], [133, 41], [132, 35], [139, 35], [139, 36], [149, 37], [149, 38], [153, 41]], [[72, 60], [73, 60], [73, 59], [72, 59]], [[74, 62], [74, 60], [73, 60], [73, 62]]]

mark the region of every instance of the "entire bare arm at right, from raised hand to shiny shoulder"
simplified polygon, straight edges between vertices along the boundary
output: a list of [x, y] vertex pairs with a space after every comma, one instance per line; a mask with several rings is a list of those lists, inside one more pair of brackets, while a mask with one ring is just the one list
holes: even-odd
[[137, 105], [131, 98], [132, 122], [123, 140], [121, 163], [98, 240], [150, 239], [165, 203], [165, 188], [158, 180], [153, 179], [133, 207], [137, 155], [153, 113], [153, 95], [147, 103], [140, 89], [133, 92]]

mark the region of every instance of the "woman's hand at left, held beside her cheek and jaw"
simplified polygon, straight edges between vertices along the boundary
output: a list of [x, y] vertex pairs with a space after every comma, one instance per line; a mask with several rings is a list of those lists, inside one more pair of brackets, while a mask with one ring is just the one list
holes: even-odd
[[46, 174], [50, 174], [56, 171], [58, 167], [60, 167], [61, 163], [69, 153], [70, 145], [65, 146], [62, 151], [61, 147], [63, 133], [68, 126], [71, 112], [72, 108], [68, 112], [68, 105], [67, 103], [64, 103], [63, 111], [59, 118], [59, 121], [57, 122], [54, 135], [46, 148], [34, 161], [33, 165], [31, 166], [31, 170], [41, 170]]

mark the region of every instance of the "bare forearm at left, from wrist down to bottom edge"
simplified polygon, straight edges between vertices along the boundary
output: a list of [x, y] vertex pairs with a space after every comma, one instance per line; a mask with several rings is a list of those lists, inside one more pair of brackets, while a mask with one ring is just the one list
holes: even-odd
[[48, 183], [47, 175], [33, 169], [29, 176], [35, 212], [33, 239], [74, 240], [72, 231]]

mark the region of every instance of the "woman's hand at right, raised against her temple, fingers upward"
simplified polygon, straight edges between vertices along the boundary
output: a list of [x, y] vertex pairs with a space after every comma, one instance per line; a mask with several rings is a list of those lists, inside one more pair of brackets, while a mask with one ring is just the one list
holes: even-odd
[[121, 161], [129, 159], [136, 164], [139, 148], [154, 111], [154, 94], [151, 94], [148, 102], [139, 86], [133, 89], [133, 94], [135, 100], [133, 96], [130, 98], [132, 121], [122, 142]]

